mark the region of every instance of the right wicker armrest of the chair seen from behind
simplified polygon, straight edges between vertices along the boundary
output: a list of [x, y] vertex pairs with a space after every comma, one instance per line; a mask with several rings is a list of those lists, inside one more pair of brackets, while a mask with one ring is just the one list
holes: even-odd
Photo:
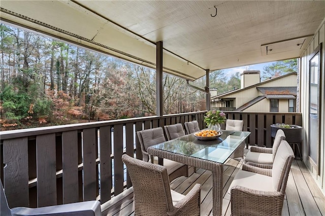
[[200, 192], [201, 185], [196, 184], [186, 196], [175, 204], [173, 211], [167, 215], [200, 215]]

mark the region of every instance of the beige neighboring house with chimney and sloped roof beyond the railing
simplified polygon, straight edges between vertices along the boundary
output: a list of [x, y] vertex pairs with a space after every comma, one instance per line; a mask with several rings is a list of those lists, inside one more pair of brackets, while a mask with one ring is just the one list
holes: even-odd
[[241, 74], [241, 89], [211, 97], [211, 108], [222, 111], [296, 112], [297, 73], [260, 82], [259, 70]]

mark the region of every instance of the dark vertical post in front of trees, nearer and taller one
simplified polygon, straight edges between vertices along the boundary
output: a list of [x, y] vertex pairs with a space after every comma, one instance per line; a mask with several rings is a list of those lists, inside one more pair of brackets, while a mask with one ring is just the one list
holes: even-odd
[[156, 116], [163, 116], [163, 42], [156, 44]]

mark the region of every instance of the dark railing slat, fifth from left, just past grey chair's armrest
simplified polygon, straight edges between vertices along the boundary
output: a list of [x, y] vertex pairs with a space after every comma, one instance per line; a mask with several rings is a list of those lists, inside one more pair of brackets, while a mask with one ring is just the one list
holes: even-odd
[[101, 203], [111, 199], [112, 189], [112, 145], [111, 126], [100, 127]]

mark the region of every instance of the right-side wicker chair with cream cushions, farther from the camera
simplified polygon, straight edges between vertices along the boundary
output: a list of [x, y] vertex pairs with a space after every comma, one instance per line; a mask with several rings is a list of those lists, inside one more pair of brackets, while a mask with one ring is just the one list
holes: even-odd
[[272, 148], [250, 147], [244, 159], [244, 163], [262, 168], [272, 168], [274, 158], [282, 140], [285, 140], [283, 130], [277, 130]]

